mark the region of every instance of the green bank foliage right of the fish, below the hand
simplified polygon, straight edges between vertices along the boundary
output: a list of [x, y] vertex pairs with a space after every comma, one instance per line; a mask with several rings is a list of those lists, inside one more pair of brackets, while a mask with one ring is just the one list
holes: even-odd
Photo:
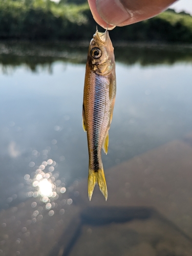
[[126, 41], [192, 43], [192, 17], [186, 13], [175, 13], [174, 10], [115, 30], [110, 33], [113, 40], [123, 38]]

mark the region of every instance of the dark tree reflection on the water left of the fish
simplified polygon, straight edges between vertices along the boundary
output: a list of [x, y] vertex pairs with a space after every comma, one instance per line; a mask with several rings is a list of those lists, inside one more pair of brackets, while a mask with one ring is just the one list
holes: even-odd
[[[89, 45], [89, 42], [87, 43]], [[6, 42], [0, 43], [0, 64], [3, 73], [10, 73], [18, 66], [25, 65], [32, 72], [48, 70], [52, 73], [53, 62], [82, 63], [87, 59], [87, 47], [75, 47], [65, 42], [43, 43]]]

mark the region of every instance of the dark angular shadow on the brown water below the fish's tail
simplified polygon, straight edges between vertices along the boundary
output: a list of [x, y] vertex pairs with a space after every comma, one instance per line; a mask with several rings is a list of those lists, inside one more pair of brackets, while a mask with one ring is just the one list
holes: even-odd
[[[169, 236], [168, 239], [166, 232]], [[124, 255], [123, 251], [131, 252], [132, 248], [139, 248], [139, 245], [143, 243], [148, 244], [148, 247], [153, 247], [158, 255], [165, 255], [161, 254], [158, 245], [172, 240], [173, 252], [174, 242], [176, 242], [173, 240], [178, 238], [189, 244], [192, 242], [190, 237], [154, 208], [88, 207], [71, 221], [49, 256], [101, 255], [103, 250], [105, 254], [102, 255], [117, 255], [116, 249], [117, 253], [119, 251], [119, 255]], [[109, 240], [111, 241], [109, 242]], [[97, 241], [96, 250], [92, 247], [95, 241]], [[105, 246], [103, 247], [103, 245]], [[150, 251], [148, 252], [150, 253]]]

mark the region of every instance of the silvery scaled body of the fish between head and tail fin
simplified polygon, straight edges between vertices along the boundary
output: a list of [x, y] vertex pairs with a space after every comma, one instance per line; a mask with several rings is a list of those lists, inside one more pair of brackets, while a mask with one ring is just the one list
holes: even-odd
[[90, 102], [86, 104], [85, 115], [86, 119], [90, 118], [87, 124], [87, 129], [90, 130], [88, 141], [93, 148], [93, 151], [90, 150], [90, 167], [98, 170], [102, 168], [100, 152], [110, 121], [110, 101], [109, 97], [106, 97], [109, 95], [109, 79], [94, 74], [92, 74], [92, 79], [95, 82], [89, 84], [94, 84], [94, 89], [90, 88], [88, 91], [87, 98]]

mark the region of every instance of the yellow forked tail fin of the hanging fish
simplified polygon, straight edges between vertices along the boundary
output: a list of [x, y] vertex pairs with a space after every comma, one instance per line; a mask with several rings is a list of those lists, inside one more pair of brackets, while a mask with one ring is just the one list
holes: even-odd
[[94, 189], [96, 183], [98, 183], [99, 188], [100, 188], [103, 196], [105, 197], [105, 200], [108, 199], [108, 189], [106, 188], [106, 181], [104, 178], [103, 169], [99, 169], [97, 172], [95, 172], [92, 169], [89, 169], [89, 176], [88, 176], [89, 200], [91, 201], [93, 189]]

